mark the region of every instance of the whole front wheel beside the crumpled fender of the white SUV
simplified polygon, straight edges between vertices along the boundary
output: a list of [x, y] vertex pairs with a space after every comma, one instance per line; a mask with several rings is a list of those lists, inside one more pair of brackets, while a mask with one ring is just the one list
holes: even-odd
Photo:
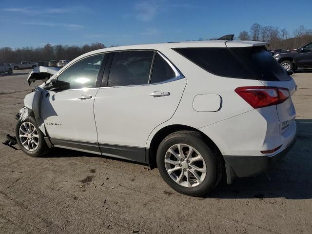
[[15, 132], [20, 149], [27, 155], [39, 157], [47, 152], [48, 147], [34, 117], [19, 120]]

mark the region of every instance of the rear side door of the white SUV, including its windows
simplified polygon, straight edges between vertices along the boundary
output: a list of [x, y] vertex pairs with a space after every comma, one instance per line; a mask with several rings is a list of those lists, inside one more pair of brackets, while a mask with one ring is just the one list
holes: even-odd
[[107, 66], [94, 103], [100, 149], [145, 163], [147, 138], [174, 115], [186, 79], [154, 51], [111, 53]]

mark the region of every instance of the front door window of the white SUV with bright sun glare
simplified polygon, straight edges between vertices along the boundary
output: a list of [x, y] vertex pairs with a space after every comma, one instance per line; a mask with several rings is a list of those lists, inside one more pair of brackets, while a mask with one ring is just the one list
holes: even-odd
[[94, 88], [104, 54], [81, 59], [63, 71], [58, 79], [70, 84], [70, 89]]

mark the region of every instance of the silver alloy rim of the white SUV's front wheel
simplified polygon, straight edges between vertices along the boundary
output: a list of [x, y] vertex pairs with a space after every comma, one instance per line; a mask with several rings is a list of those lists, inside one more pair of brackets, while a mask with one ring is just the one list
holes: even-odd
[[28, 151], [34, 151], [39, 146], [39, 133], [30, 122], [23, 122], [19, 130], [20, 143]]

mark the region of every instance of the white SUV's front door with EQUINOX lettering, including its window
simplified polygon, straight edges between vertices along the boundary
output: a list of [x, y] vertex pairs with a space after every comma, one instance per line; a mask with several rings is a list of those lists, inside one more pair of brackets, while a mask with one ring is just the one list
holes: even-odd
[[70, 89], [43, 97], [41, 117], [53, 144], [99, 152], [93, 104], [103, 58], [95, 55], [72, 64], [57, 77], [69, 82]]

